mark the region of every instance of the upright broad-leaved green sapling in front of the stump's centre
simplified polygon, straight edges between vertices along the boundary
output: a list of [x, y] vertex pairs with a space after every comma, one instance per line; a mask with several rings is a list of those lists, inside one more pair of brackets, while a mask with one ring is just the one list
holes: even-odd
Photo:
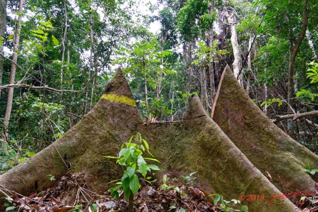
[[[132, 142], [135, 138], [136, 143]], [[152, 158], [143, 157], [142, 154], [147, 151]], [[117, 159], [116, 163], [126, 167], [124, 174], [121, 179], [111, 181], [110, 183], [118, 182], [115, 187], [109, 189], [111, 197], [119, 198], [118, 189], [124, 191], [125, 198], [129, 200], [128, 212], [132, 212], [134, 208], [134, 196], [141, 187], [139, 183], [138, 173], [142, 175], [142, 180], [151, 183], [154, 181], [149, 181], [151, 177], [146, 177], [147, 172], [152, 170], [159, 170], [159, 167], [154, 164], [147, 164], [145, 160], [151, 160], [159, 162], [154, 158], [154, 155], [149, 151], [149, 145], [146, 140], [142, 139], [142, 136], [138, 133], [136, 136], [132, 136], [129, 141], [122, 144], [121, 149], [118, 153], [118, 157], [105, 156], [107, 158]]]

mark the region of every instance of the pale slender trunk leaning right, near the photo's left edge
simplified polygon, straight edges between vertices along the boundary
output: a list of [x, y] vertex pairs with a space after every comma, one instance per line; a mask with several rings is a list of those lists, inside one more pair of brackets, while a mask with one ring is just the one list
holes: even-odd
[[[24, 0], [20, 0], [20, 2], [19, 2], [19, 14], [22, 14], [23, 4], [24, 4]], [[15, 38], [14, 38], [14, 43], [13, 43], [13, 53], [12, 53], [13, 54], [12, 55], [13, 63], [11, 65], [9, 84], [14, 84], [14, 79], [15, 79], [15, 71], [16, 71], [15, 64], [17, 63], [17, 60], [18, 60], [18, 54], [16, 52], [19, 49], [19, 43], [20, 43], [21, 21], [22, 21], [22, 16], [18, 15], [18, 22], [16, 25]], [[5, 141], [7, 140], [7, 127], [9, 126], [9, 120], [10, 120], [10, 116], [11, 116], [12, 101], [13, 101], [13, 87], [8, 89], [6, 110], [5, 110], [5, 114], [4, 114], [3, 125], [4, 125], [6, 132], [4, 133], [3, 140], [5, 140]]]

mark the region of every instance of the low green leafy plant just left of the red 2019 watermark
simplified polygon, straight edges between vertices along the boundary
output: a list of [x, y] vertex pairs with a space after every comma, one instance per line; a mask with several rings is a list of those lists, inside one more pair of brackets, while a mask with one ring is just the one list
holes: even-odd
[[[214, 198], [214, 202], [213, 204], [216, 206], [219, 202], [220, 202], [220, 207], [223, 211], [225, 212], [248, 212], [248, 207], [247, 206], [240, 206], [240, 201], [239, 200], [231, 200], [231, 201], [226, 201], [224, 200], [223, 196], [220, 194], [210, 194], [208, 197], [213, 197]], [[235, 209], [238, 208], [240, 206], [239, 209]]]

